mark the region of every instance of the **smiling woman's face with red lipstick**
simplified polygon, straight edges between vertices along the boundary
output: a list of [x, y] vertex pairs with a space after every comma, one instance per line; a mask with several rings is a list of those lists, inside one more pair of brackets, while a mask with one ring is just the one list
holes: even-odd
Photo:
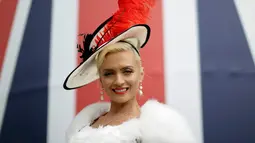
[[109, 53], [100, 67], [102, 86], [116, 103], [125, 103], [136, 97], [143, 73], [131, 50]]

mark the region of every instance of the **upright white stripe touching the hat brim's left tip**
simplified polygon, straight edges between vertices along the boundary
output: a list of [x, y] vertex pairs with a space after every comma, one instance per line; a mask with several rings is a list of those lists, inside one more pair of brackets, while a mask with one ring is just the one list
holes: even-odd
[[78, 1], [53, 0], [52, 8], [47, 143], [63, 143], [76, 109], [75, 91], [62, 85], [76, 66]]

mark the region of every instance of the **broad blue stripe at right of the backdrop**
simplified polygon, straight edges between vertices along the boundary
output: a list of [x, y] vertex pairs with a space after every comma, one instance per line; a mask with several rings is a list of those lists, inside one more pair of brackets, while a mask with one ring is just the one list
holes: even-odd
[[205, 143], [255, 143], [255, 68], [232, 0], [199, 0]]

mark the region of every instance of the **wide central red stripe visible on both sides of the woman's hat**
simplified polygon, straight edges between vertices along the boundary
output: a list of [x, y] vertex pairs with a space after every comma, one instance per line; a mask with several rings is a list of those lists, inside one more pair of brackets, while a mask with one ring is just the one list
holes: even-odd
[[[79, 33], [92, 33], [99, 24], [109, 18], [117, 9], [117, 1], [90, 0], [79, 1]], [[152, 29], [151, 38], [141, 52], [145, 77], [143, 82], [144, 97], [139, 102], [143, 104], [148, 98], [156, 98], [164, 102], [164, 67], [163, 67], [163, 30], [162, 2], [157, 1], [149, 21]], [[78, 58], [78, 62], [80, 59]], [[76, 112], [86, 105], [99, 101], [99, 82], [84, 86], [77, 90]], [[109, 99], [106, 97], [106, 100]]]

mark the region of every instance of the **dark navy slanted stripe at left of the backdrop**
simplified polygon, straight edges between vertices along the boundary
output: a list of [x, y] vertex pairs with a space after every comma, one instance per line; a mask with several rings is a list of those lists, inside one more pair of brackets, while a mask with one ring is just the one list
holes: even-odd
[[1, 143], [46, 143], [51, 0], [34, 0], [1, 130]]

